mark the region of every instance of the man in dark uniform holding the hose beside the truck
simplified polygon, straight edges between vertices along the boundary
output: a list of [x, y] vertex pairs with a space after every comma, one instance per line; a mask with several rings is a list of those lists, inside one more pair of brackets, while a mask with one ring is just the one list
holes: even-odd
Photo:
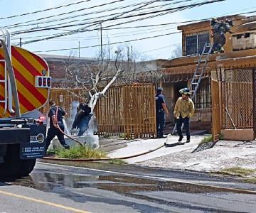
[[46, 137], [46, 151], [50, 145], [50, 141], [52, 141], [55, 136], [58, 137], [60, 144], [64, 148], [68, 149], [70, 148], [70, 146], [68, 146], [68, 144], [65, 143], [64, 133], [63, 133], [64, 132], [63, 116], [66, 115], [66, 112], [61, 107], [56, 106], [53, 100], [50, 100], [49, 104], [50, 104], [50, 110], [48, 113], [48, 117], [50, 119], [50, 128], [48, 129], [47, 137]]

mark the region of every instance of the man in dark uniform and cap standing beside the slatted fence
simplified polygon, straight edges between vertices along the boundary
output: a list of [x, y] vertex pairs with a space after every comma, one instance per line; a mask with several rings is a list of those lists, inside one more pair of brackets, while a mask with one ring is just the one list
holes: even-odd
[[164, 136], [164, 124], [165, 117], [169, 114], [162, 94], [163, 89], [161, 87], [156, 89], [156, 134], [157, 138], [166, 138]]

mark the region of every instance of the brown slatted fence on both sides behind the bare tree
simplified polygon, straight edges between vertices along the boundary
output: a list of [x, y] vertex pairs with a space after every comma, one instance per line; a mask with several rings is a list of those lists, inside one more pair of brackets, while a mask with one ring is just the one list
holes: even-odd
[[[156, 137], [155, 87], [151, 84], [112, 87], [97, 102], [95, 114], [100, 136], [124, 138]], [[78, 102], [85, 102], [82, 89], [51, 89], [49, 99], [68, 112], [66, 119], [71, 129]], [[74, 104], [75, 102], [75, 104]], [[49, 110], [48, 103], [41, 109]]]

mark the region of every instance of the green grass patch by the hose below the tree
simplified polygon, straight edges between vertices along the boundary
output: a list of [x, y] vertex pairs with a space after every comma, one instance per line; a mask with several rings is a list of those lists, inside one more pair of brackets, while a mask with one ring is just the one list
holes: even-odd
[[59, 148], [50, 153], [55, 153], [55, 157], [69, 159], [100, 159], [106, 158], [106, 153], [90, 148], [89, 146], [73, 146], [70, 149]]

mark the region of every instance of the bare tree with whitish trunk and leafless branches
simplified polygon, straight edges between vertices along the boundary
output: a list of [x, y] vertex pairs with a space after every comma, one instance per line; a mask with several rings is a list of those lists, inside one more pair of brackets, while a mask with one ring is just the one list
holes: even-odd
[[107, 47], [93, 60], [82, 61], [70, 55], [65, 62], [66, 80], [70, 82], [75, 79], [71, 81], [73, 87], [82, 87], [89, 94], [89, 106], [93, 111], [97, 100], [105, 96], [107, 89], [113, 84], [129, 82], [125, 76], [135, 71], [135, 63], [134, 57], [127, 53], [125, 46], [119, 46], [115, 51]]

